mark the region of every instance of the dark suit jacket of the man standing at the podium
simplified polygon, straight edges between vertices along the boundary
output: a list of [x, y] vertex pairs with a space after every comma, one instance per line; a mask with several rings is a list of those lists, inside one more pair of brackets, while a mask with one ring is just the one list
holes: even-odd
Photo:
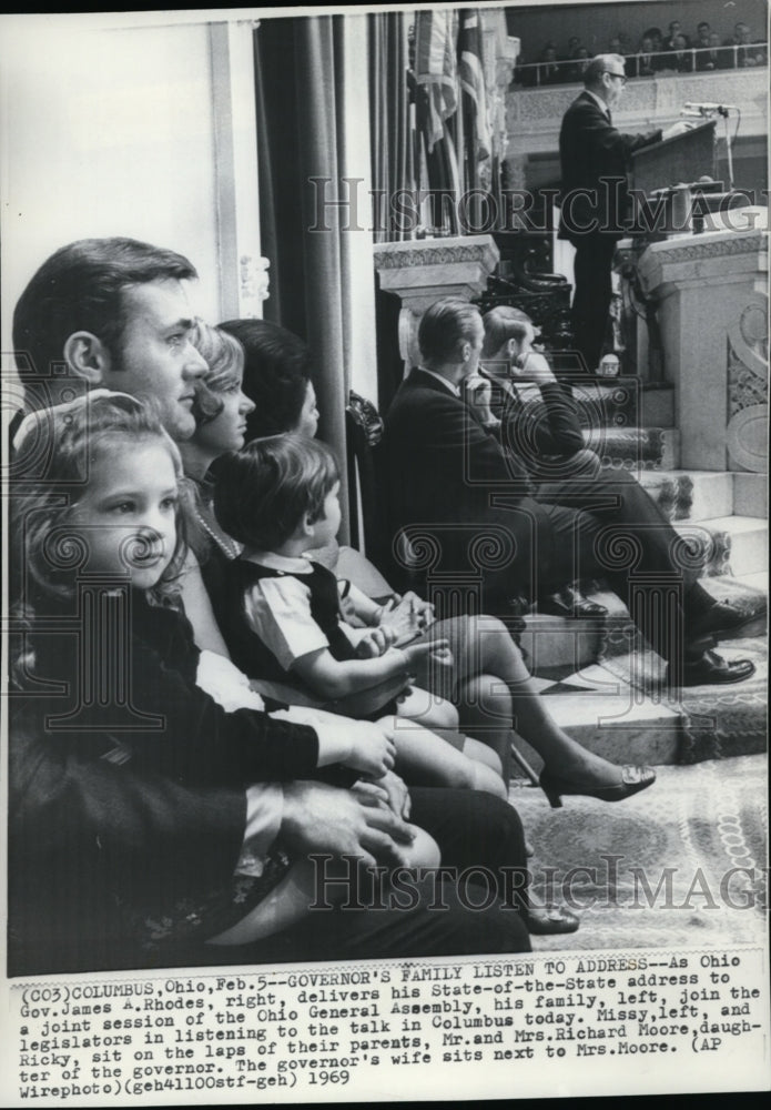
[[559, 132], [559, 238], [574, 245], [592, 232], [621, 239], [629, 204], [629, 157], [660, 139], [660, 129], [640, 135], [623, 134], [609, 122], [592, 95], [585, 91], [577, 97], [562, 117]]

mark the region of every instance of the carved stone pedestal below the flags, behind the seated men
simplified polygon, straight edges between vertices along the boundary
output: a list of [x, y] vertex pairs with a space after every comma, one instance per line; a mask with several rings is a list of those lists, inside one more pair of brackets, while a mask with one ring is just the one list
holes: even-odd
[[420, 361], [417, 327], [429, 304], [443, 296], [470, 301], [487, 285], [499, 259], [491, 235], [378, 243], [375, 270], [381, 289], [402, 300], [399, 354], [409, 370]]

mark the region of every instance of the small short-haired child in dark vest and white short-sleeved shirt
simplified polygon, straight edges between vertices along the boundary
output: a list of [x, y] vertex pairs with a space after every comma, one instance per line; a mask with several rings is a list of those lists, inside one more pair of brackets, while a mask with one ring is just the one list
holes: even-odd
[[[419, 660], [442, 660], [447, 645], [398, 647], [396, 630], [372, 610], [362, 614], [368, 626], [352, 627], [342, 617], [334, 574], [304, 557], [337, 534], [338, 493], [335, 457], [315, 440], [271, 436], [220, 461], [214, 511], [221, 528], [243, 545], [230, 567], [227, 612], [220, 613], [233, 662], [247, 675], [302, 683], [333, 706], [358, 697], [361, 712], [368, 702], [372, 715], [393, 729], [397, 767], [413, 783], [506, 797], [486, 763], [428, 730], [455, 728], [454, 707], [409, 686]], [[396, 706], [384, 686], [399, 690]]]

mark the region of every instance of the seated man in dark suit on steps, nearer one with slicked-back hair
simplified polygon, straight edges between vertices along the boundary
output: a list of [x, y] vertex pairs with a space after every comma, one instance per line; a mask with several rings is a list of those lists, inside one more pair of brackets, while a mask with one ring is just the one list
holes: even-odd
[[[599, 496], [592, 512], [532, 497], [526, 467], [501, 446], [499, 423], [483, 422], [463, 395], [465, 380], [479, 369], [484, 340], [478, 309], [464, 301], [437, 301], [420, 321], [423, 365], [399, 386], [383, 438], [395, 536], [402, 529], [407, 541], [427, 536], [424, 548], [435, 556], [437, 577], [450, 589], [454, 575], [463, 582], [480, 578], [485, 604], [497, 604], [498, 612], [511, 594], [532, 597], [579, 578], [606, 578], [630, 605], [632, 587], [643, 587], [646, 604], [633, 605], [636, 619], [668, 662], [670, 684], [749, 678], [751, 660], [727, 662], [706, 649], [736, 635], [747, 616], [716, 603], [692, 569], [677, 565], [673, 533], [662, 516], [656, 527], [650, 519], [619, 523], [615, 497]], [[616, 558], [619, 544], [633, 556]], [[657, 613], [659, 578], [668, 593], [677, 584], [678, 594], [673, 603], [668, 596], [663, 623]]]

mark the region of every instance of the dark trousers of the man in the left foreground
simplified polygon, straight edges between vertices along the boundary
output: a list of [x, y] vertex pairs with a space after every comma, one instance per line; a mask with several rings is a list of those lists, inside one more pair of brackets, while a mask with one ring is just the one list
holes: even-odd
[[[292, 929], [243, 948], [199, 948], [206, 963], [364, 960], [530, 951], [530, 938], [511, 890], [525, 880], [521, 823], [508, 805], [474, 790], [415, 788], [410, 821], [430, 833], [443, 867], [461, 876], [428, 877], [399, 896], [404, 908], [314, 910]], [[464, 877], [466, 869], [473, 870]], [[513, 876], [514, 868], [518, 875]], [[367, 895], [361, 894], [364, 904]], [[489, 901], [489, 905], [486, 902]], [[476, 907], [476, 908], [475, 908]], [[186, 958], [190, 960], [193, 953]], [[185, 962], [185, 960], [182, 960]], [[191, 965], [189, 965], [191, 966]]]

